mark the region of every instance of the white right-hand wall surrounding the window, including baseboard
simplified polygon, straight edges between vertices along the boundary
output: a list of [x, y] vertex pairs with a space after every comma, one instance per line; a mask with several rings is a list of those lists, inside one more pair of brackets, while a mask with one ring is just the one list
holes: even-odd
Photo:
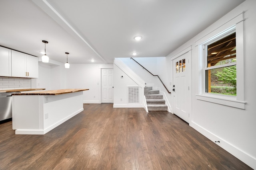
[[[256, 1], [246, 0], [240, 6], [229, 12], [227, 15], [216, 21], [210, 27], [199, 33], [196, 37], [176, 49], [166, 61], [171, 61], [172, 57], [187, 47], [192, 47], [192, 118], [190, 126], [217, 143], [220, 147], [256, 169], [256, 76], [252, 70], [256, 63], [255, 57], [255, 37], [256, 37]], [[199, 87], [199, 56], [195, 42], [208, 35], [232, 18], [245, 12], [244, 33], [245, 33], [245, 84], [246, 89], [246, 109], [238, 109], [221, 104], [214, 104], [196, 99]], [[170, 64], [167, 72], [172, 70]], [[165, 74], [166, 70], [158, 70], [158, 74]], [[170, 82], [168, 75], [164, 82]], [[171, 80], [172, 81], [172, 80]]]

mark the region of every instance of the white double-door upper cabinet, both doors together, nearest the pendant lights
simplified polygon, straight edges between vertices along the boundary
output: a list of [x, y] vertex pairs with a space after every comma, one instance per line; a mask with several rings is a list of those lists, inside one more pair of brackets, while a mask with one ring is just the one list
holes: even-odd
[[12, 77], [38, 78], [38, 58], [12, 50]]

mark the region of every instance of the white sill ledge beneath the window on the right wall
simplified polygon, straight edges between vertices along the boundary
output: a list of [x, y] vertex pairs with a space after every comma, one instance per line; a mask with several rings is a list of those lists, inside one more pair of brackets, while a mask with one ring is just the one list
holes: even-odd
[[[228, 96], [229, 97], [229, 96]], [[245, 109], [246, 102], [245, 101], [239, 101], [232, 98], [219, 98], [215, 95], [196, 95], [197, 100], [203, 100], [206, 102], [212, 102], [216, 104], [221, 104], [224, 106], [230, 106], [230, 107], [236, 107], [239, 109]]]

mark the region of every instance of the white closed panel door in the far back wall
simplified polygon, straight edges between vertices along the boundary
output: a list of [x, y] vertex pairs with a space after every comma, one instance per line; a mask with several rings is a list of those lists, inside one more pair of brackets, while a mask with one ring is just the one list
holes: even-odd
[[113, 103], [114, 102], [114, 86], [113, 86], [113, 69], [102, 69], [101, 70], [101, 94], [102, 103]]

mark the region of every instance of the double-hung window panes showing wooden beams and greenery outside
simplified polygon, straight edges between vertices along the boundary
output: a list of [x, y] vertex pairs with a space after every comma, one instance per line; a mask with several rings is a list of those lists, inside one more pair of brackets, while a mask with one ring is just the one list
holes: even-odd
[[[236, 32], [205, 45], [205, 92], [236, 96]], [[228, 34], [227, 33], [227, 34]], [[223, 37], [223, 38], [222, 38]]]

